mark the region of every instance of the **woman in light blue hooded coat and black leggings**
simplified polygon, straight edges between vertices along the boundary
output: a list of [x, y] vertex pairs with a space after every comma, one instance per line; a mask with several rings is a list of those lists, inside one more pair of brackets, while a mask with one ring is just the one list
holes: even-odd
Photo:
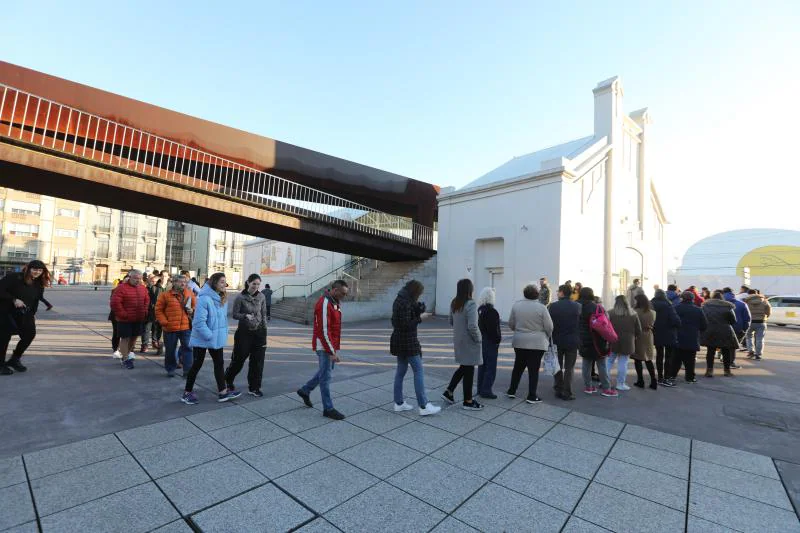
[[189, 338], [194, 362], [186, 376], [186, 389], [181, 397], [181, 401], [187, 405], [197, 403], [197, 396], [192, 389], [197, 373], [203, 367], [206, 350], [214, 361], [214, 378], [217, 380], [217, 390], [219, 390], [217, 401], [227, 402], [242, 394], [235, 390], [229, 391], [225, 384], [225, 361], [222, 349], [228, 342], [228, 303], [225, 292], [227, 286], [225, 274], [217, 272], [209, 278], [197, 296], [192, 319], [192, 336]]

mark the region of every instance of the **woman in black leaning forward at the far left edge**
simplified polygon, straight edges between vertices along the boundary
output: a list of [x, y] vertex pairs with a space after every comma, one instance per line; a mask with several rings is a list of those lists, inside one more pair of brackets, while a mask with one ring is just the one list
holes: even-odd
[[[50, 286], [50, 271], [35, 259], [22, 267], [22, 272], [7, 274], [0, 280], [0, 306], [5, 317], [0, 318], [0, 375], [25, 372], [22, 355], [36, 338], [36, 311], [39, 300], [44, 297], [45, 287]], [[19, 335], [19, 342], [6, 362], [8, 343], [12, 335]]]

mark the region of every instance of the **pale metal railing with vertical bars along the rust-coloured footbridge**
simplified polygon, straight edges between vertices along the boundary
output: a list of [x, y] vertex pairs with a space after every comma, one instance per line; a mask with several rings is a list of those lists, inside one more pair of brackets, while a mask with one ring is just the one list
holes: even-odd
[[0, 83], [0, 137], [432, 250], [433, 228]]

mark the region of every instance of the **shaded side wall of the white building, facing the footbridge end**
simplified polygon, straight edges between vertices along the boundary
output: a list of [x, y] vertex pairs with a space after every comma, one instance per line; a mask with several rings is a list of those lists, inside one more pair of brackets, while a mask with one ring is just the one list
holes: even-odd
[[560, 210], [560, 174], [441, 197], [437, 314], [447, 314], [459, 279], [472, 279], [477, 296], [488, 283], [485, 267], [499, 266], [486, 264], [497, 261], [496, 248], [481, 253], [477, 241], [502, 239], [503, 274], [495, 289], [504, 320], [525, 284], [541, 276], [558, 279]]

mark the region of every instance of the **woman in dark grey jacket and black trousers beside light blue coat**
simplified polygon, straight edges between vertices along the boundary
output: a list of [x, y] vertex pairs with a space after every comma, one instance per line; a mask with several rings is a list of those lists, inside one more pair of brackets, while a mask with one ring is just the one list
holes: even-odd
[[225, 371], [228, 390], [236, 390], [233, 382], [249, 358], [247, 367], [247, 392], [261, 398], [261, 381], [264, 375], [264, 357], [267, 353], [267, 304], [260, 292], [261, 276], [250, 274], [244, 290], [233, 302], [233, 319], [239, 327], [233, 335], [233, 355]]

